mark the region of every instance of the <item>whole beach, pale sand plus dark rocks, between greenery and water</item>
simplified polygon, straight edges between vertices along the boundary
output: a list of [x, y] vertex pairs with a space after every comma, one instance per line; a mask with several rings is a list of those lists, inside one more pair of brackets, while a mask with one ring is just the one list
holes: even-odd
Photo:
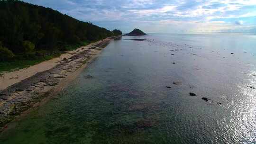
[[108, 37], [49, 61], [4, 73], [0, 77], [0, 127], [6, 127], [22, 112], [39, 106], [43, 99], [61, 91], [117, 37]]

